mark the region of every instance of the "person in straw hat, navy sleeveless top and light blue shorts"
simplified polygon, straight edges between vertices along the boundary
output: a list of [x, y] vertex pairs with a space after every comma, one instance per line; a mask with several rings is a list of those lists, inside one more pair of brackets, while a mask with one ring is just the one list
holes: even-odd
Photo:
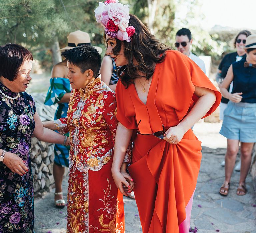
[[[220, 134], [227, 138], [225, 181], [219, 192], [228, 195], [230, 179], [241, 142], [241, 170], [236, 194], [247, 193], [245, 179], [251, 165], [253, 144], [256, 142], [256, 35], [250, 35], [244, 46], [246, 58], [233, 63], [220, 87], [223, 97], [229, 99], [224, 111]], [[233, 81], [232, 93], [227, 88]]]

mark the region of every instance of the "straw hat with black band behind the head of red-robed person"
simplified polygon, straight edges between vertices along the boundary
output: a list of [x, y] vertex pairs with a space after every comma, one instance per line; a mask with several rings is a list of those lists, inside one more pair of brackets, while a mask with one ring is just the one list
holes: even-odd
[[[87, 32], [82, 32], [80, 30], [71, 32], [68, 36], [68, 46], [60, 50], [73, 49], [74, 47], [79, 45], [91, 45], [91, 39]], [[102, 48], [98, 46], [93, 46], [93, 47], [97, 49], [99, 53], [102, 53]]]

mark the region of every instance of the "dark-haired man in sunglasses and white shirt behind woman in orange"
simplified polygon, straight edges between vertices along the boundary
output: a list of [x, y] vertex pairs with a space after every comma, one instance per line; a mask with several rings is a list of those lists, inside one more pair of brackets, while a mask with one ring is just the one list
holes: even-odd
[[189, 29], [182, 28], [176, 33], [175, 47], [177, 50], [187, 55], [202, 69], [204, 73], [206, 73], [204, 61], [190, 51], [190, 45], [192, 42], [193, 39]]

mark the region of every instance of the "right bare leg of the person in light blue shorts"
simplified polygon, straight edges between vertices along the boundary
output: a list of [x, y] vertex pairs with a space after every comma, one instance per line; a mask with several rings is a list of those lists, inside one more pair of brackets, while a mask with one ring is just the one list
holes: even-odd
[[[254, 143], [245, 143], [241, 142], [241, 170], [240, 170], [240, 180], [239, 180], [239, 187], [242, 188], [242, 186], [245, 187], [245, 179], [248, 175], [251, 161], [252, 161], [252, 149], [253, 149]], [[246, 191], [238, 191], [238, 194], [245, 194]]]

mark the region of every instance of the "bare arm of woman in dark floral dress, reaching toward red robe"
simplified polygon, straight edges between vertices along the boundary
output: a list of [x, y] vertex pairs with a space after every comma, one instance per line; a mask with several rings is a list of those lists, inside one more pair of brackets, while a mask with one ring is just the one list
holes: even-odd
[[44, 128], [42, 121], [37, 112], [34, 115], [34, 120], [35, 120], [36, 126], [35, 126], [33, 136], [35, 136], [38, 140], [50, 142], [54, 144], [62, 144], [64, 142], [64, 139], [65, 139], [64, 135], [56, 133], [51, 129]]

